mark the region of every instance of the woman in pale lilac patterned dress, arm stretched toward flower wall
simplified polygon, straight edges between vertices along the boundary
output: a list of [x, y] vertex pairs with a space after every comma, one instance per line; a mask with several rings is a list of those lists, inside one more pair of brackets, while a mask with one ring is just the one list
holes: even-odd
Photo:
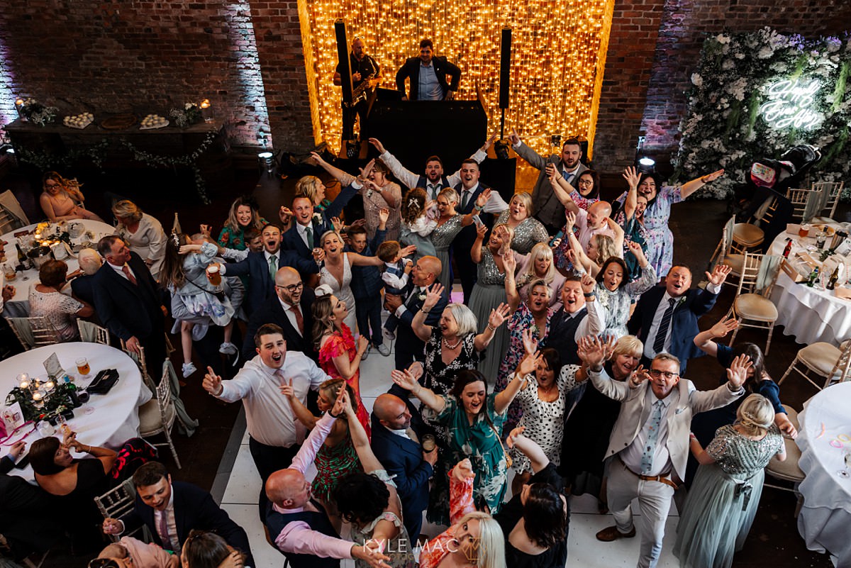
[[[658, 181], [654, 173], [642, 173], [638, 181], [638, 195], [647, 198], [647, 208], [644, 210], [644, 229], [648, 234], [648, 260], [653, 264], [656, 275], [664, 278], [671, 270], [674, 261], [674, 234], [668, 228], [671, 219], [671, 205], [682, 202], [688, 196], [709, 182], [720, 178], [724, 170], [707, 173], [700, 178], [692, 179], [680, 185], [671, 187], [665, 185], [657, 190]], [[618, 197], [623, 202], [628, 191]]]

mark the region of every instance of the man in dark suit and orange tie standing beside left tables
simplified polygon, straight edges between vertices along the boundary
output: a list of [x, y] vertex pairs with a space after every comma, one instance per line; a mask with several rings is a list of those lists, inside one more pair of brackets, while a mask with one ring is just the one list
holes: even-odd
[[145, 261], [130, 252], [120, 236], [98, 242], [106, 263], [94, 275], [94, 310], [100, 321], [139, 353], [145, 348], [148, 369], [155, 376], [165, 361], [165, 306]]

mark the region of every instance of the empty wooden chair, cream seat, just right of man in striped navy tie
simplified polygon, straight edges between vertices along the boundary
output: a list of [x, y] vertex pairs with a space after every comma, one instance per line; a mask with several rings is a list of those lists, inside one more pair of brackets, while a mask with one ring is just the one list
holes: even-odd
[[[774, 323], [779, 315], [777, 306], [771, 301], [771, 290], [777, 282], [782, 260], [783, 257], [774, 254], [745, 253], [739, 287], [736, 288], [736, 297], [728, 312], [739, 323], [730, 336], [730, 345], [734, 344], [736, 334], [742, 327], [768, 329], [765, 344], [765, 355], [768, 355]], [[745, 293], [742, 293], [743, 290]]]

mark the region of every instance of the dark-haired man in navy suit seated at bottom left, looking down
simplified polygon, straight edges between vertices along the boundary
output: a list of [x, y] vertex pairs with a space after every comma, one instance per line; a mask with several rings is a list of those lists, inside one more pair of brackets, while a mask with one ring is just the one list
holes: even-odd
[[192, 529], [213, 531], [245, 554], [246, 566], [254, 566], [243, 527], [233, 522], [207, 491], [191, 483], [173, 483], [168, 470], [158, 462], [148, 462], [137, 469], [133, 485], [136, 487], [133, 510], [121, 519], [105, 519], [106, 534], [119, 535], [146, 525], [154, 543], [179, 552]]

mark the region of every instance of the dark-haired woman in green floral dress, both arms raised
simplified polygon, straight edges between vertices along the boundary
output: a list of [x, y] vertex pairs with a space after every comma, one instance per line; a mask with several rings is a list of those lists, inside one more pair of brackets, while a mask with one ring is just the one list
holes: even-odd
[[[515, 376], [501, 393], [488, 395], [481, 372], [461, 371], [447, 396], [426, 389], [408, 370], [393, 371], [391, 378], [422, 400], [430, 411], [430, 419], [448, 429], [448, 452], [441, 452], [438, 463], [443, 463], [443, 468], [448, 470], [453, 463], [470, 458], [476, 470], [474, 491], [477, 500], [481, 500], [491, 513], [499, 511], [507, 485], [502, 427], [508, 406], [520, 389], [521, 378]], [[428, 519], [448, 525], [448, 486], [442, 478], [435, 475]]]

